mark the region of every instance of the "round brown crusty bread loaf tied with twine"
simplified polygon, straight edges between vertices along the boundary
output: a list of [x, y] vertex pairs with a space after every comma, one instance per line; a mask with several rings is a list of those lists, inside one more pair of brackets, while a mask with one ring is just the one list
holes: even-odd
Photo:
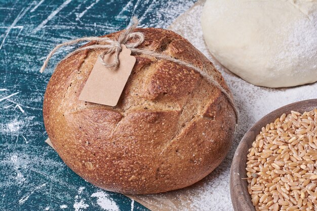
[[[229, 92], [213, 64], [180, 35], [135, 31], [145, 37], [138, 48], [204, 66]], [[65, 163], [88, 182], [127, 194], [175, 190], [211, 173], [227, 154], [235, 126], [223, 93], [188, 67], [134, 55], [116, 106], [78, 100], [100, 53], [86, 50], [61, 61], [48, 83], [44, 123]]]

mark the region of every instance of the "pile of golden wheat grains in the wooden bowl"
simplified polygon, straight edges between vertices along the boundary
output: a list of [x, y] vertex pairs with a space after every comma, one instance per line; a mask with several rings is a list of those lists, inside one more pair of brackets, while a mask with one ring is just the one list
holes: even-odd
[[262, 128], [249, 149], [256, 210], [317, 210], [317, 109], [291, 111]]

